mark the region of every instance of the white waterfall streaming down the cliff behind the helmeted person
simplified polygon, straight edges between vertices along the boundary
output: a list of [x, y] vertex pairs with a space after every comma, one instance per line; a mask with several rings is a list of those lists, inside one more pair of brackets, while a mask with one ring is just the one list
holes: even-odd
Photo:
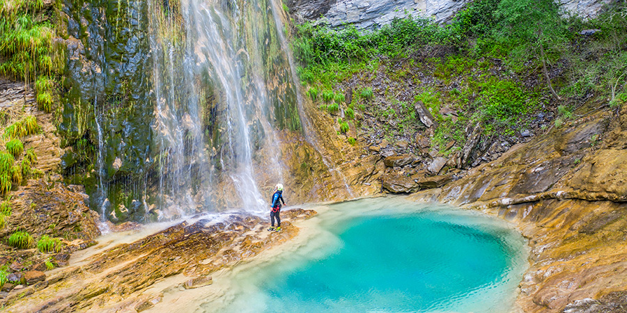
[[274, 6], [164, 3], [148, 3], [160, 218], [208, 209], [261, 212], [267, 204], [258, 184], [283, 176], [275, 129], [300, 128]]

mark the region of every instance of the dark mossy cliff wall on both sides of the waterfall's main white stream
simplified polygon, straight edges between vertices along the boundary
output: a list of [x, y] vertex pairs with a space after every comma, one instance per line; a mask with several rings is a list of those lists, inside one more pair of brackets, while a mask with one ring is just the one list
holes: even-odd
[[[235, 28], [226, 40], [240, 49], [232, 62], [244, 69], [238, 88], [247, 90], [243, 114], [253, 157], [268, 163], [269, 133], [301, 130], [283, 30], [270, 1], [227, 2], [221, 8]], [[212, 68], [189, 70], [200, 62], [194, 61], [198, 38], [190, 8], [185, 1], [63, 3], [61, 170], [68, 182], [86, 186], [103, 218], [154, 220], [181, 198], [178, 190], [191, 193], [192, 210], [237, 201], [224, 197], [224, 190], [235, 192], [225, 172], [238, 158], [225, 148], [233, 138], [224, 88]], [[260, 98], [267, 103], [260, 106]], [[164, 131], [179, 132], [180, 143], [162, 140]], [[281, 180], [257, 178], [263, 188]]]

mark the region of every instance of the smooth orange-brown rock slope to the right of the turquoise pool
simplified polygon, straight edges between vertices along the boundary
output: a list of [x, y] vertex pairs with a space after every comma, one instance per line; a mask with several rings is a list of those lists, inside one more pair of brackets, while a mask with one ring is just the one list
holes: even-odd
[[479, 209], [529, 239], [524, 312], [626, 312], [627, 108], [583, 118], [415, 200]]

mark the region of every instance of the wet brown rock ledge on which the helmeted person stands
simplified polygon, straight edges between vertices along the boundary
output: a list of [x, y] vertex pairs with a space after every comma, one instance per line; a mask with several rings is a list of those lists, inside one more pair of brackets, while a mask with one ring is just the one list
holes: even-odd
[[141, 312], [162, 300], [162, 290], [148, 290], [157, 282], [178, 275], [182, 280], [166, 289], [211, 284], [211, 273], [293, 238], [298, 228], [292, 222], [315, 214], [282, 212], [281, 232], [265, 231], [265, 220], [247, 214], [233, 214], [222, 223], [183, 222], [11, 291], [2, 305], [5, 312]]

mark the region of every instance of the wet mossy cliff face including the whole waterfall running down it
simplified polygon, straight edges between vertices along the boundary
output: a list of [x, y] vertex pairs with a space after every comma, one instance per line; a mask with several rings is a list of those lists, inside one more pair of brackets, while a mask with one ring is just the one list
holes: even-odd
[[321, 151], [300, 116], [278, 1], [64, 1], [79, 40], [68, 47], [62, 168], [103, 220], [261, 212], [262, 195], [293, 178], [280, 141], [299, 135], [281, 131], [304, 130]]

